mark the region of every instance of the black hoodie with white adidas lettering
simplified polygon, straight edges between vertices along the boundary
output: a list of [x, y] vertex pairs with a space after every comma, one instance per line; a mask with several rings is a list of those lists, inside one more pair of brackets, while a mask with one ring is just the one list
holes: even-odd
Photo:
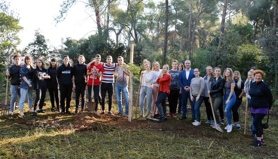
[[57, 69], [57, 79], [59, 80], [59, 84], [69, 85], [72, 84], [72, 76], [73, 76], [73, 67], [68, 64], [65, 66], [63, 63]]

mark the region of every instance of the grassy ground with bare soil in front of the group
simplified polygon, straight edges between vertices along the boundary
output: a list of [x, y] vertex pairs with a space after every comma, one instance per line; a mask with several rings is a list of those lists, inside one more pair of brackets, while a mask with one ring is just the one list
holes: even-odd
[[[3, 101], [3, 98], [1, 99]], [[116, 102], [113, 103], [112, 111], [116, 113], [117, 105]], [[248, 132], [247, 136], [243, 136], [244, 101], [240, 112], [242, 128], [233, 128], [231, 133], [220, 133], [204, 124], [204, 106], [201, 107], [202, 124], [197, 127], [191, 124], [190, 119], [181, 121], [168, 117], [168, 120], [162, 123], [144, 120], [129, 123], [127, 118], [121, 119], [105, 114], [100, 118], [94, 118], [95, 127], [88, 131], [75, 130], [74, 124], [79, 122], [81, 113], [75, 116], [61, 116], [57, 112], [50, 112], [50, 107], [49, 99], [46, 99], [45, 114], [33, 117], [30, 112], [26, 112], [25, 117], [19, 117], [18, 114], [0, 117], [0, 158], [183, 159], [278, 156], [277, 112], [272, 109], [270, 127], [264, 130], [264, 147], [254, 148], [249, 145], [253, 139], [247, 137], [251, 134]], [[71, 112], [73, 111], [72, 100]], [[265, 120], [266, 117], [263, 122]], [[84, 124], [84, 121], [85, 118], [80, 120], [80, 124]], [[47, 124], [53, 124], [52, 122], [59, 123], [60, 126], [45, 128]], [[39, 124], [43, 124], [44, 127], [40, 127]], [[250, 125], [249, 113], [247, 125]], [[224, 126], [221, 127], [224, 129]]]

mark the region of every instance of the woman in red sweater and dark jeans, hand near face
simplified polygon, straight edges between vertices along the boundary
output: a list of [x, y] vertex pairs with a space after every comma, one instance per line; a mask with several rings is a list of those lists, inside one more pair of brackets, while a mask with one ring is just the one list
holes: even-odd
[[[158, 122], [162, 122], [163, 120], [166, 119], [166, 98], [170, 93], [170, 82], [171, 82], [171, 75], [168, 72], [169, 72], [169, 66], [164, 65], [160, 75], [158, 76], [158, 79], [156, 80], [156, 82], [160, 85], [159, 95], [156, 99], [156, 107], [159, 110], [159, 113], [161, 114]], [[160, 103], [162, 104], [162, 108]]]

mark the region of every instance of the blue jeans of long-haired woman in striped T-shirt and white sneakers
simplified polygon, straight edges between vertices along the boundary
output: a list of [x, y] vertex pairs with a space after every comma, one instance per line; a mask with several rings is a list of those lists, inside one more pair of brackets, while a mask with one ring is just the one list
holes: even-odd
[[229, 98], [230, 92], [225, 92], [224, 94], [224, 106], [225, 106], [225, 112], [226, 112], [226, 117], [228, 121], [228, 125], [232, 124], [232, 114], [231, 114], [231, 108], [236, 102], [236, 93], [233, 92], [233, 95], [231, 99], [229, 100], [228, 104], [226, 104], [226, 100]]

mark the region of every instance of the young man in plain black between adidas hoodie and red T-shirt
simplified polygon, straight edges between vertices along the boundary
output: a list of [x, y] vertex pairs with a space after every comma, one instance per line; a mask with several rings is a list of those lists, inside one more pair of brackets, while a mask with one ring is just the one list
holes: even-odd
[[79, 112], [79, 95], [81, 94], [81, 111], [84, 111], [85, 105], [85, 93], [87, 89], [87, 65], [84, 63], [85, 57], [80, 55], [78, 57], [78, 63], [73, 66], [73, 88], [75, 89], [75, 112], [77, 114]]

